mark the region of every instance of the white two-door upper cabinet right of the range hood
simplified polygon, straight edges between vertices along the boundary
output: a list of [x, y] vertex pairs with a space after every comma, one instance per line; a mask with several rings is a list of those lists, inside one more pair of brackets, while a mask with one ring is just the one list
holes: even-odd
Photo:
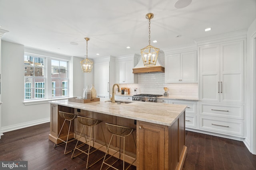
[[197, 82], [197, 51], [166, 55], [165, 82]]

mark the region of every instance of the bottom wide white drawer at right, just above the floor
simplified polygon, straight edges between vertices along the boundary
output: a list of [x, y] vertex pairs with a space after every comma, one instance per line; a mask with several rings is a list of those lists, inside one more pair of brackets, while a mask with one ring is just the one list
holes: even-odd
[[228, 118], [200, 116], [200, 129], [215, 133], [244, 136], [244, 122]]

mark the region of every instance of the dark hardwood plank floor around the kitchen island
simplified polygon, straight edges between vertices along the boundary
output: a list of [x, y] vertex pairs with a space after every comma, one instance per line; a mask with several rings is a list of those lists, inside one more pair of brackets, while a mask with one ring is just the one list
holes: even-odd
[[[86, 169], [85, 154], [71, 159], [72, 153], [64, 154], [64, 146], [53, 148], [49, 133], [50, 123], [4, 133], [0, 141], [0, 160], [27, 160], [29, 170]], [[186, 131], [186, 146], [183, 170], [256, 170], [256, 155], [241, 141]], [[99, 154], [104, 153], [99, 151], [97, 156]], [[122, 167], [122, 161], [118, 164]], [[100, 166], [101, 161], [90, 169], [99, 170]], [[136, 167], [129, 169], [136, 170]]]

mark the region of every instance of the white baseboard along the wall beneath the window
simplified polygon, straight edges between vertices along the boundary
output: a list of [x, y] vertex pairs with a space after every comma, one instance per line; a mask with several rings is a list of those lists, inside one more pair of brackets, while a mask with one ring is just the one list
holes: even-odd
[[50, 117], [45, 118], [45, 119], [35, 120], [35, 121], [29, 121], [29, 122], [25, 122], [25, 123], [19, 123], [19, 124], [16, 124], [16, 125], [1, 127], [1, 131], [4, 133], [4, 132], [9, 132], [9, 131], [14, 131], [14, 130], [17, 130], [17, 129], [22, 129], [24, 127], [30, 127], [30, 126], [39, 125], [39, 124], [42, 124], [42, 123], [47, 123], [47, 122], [50, 122]]

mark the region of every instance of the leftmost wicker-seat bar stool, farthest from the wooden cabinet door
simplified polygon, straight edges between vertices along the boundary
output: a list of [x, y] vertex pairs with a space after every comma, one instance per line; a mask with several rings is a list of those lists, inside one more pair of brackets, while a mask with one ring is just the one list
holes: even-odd
[[[56, 139], [56, 142], [54, 143], [54, 148], [55, 148], [55, 147], [58, 147], [58, 146], [60, 146], [60, 145], [63, 145], [64, 143], [66, 143], [65, 150], [64, 150], [64, 154], [68, 154], [69, 152], [72, 152], [73, 150], [70, 150], [70, 151], [66, 152], [67, 144], [68, 144], [69, 142], [72, 142], [72, 141], [76, 140], [76, 137], [75, 137], [75, 139], [68, 140], [71, 122], [72, 122], [72, 120], [74, 120], [74, 119], [76, 118], [76, 115], [75, 115], [74, 113], [66, 113], [66, 112], [63, 112], [63, 111], [59, 111], [59, 115], [60, 115], [60, 117], [62, 117], [62, 118], [65, 119], [65, 120], [64, 120], [64, 122], [63, 122], [63, 124], [62, 124], [62, 127], [61, 127], [61, 129], [60, 129], [60, 132], [59, 132], [58, 137], [57, 137], [57, 139]], [[63, 126], [64, 126], [64, 124], [65, 124], [66, 121], [69, 121], [70, 123], [69, 123], [69, 127], [68, 127], [68, 136], [67, 136], [67, 140], [64, 141], [63, 139], [60, 139], [60, 133], [61, 133], [62, 128], [63, 128]], [[75, 133], [75, 135], [76, 135], [76, 133]], [[63, 143], [60, 143], [60, 144], [56, 145], [58, 140], [62, 141]]]

